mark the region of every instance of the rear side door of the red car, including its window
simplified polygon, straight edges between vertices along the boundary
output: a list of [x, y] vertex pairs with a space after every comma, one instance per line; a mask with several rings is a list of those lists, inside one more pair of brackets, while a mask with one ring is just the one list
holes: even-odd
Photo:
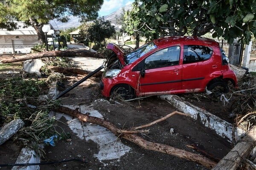
[[212, 65], [211, 57], [213, 49], [204, 45], [184, 45], [183, 52], [183, 74], [182, 89], [201, 91], [204, 87], [206, 77]]

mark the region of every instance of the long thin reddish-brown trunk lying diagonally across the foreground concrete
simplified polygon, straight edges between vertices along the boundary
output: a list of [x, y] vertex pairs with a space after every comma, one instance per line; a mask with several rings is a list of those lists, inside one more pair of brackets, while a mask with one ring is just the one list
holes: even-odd
[[100, 119], [97, 117], [89, 116], [87, 114], [82, 114], [81, 112], [78, 111], [78, 109], [73, 110], [73, 109], [61, 106], [59, 108], [56, 108], [55, 111], [58, 111], [61, 113], [66, 113], [71, 116], [75, 116], [82, 122], [88, 122], [88, 123], [93, 123], [93, 124], [103, 126], [103, 127], [107, 128], [108, 130], [111, 130], [111, 132], [113, 132], [116, 136], [122, 137], [123, 139], [127, 139], [131, 142], [134, 142], [135, 144], [139, 145], [143, 149], [154, 150], [154, 151], [161, 152], [161, 153], [167, 153], [169, 155], [177, 156], [182, 159], [194, 161], [194, 162], [197, 162], [198, 164], [201, 164], [207, 168], [212, 168], [216, 164], [216, 162], [214, 162], [204, 156], [201, 156], [201, 155], [198, 155], [195, 153], [190, 153], [186, 150], [178, 149], [178, 148], [171, 147], [171, 146], [168, 146], [165, 144], [149, 142], [149, 141], [146, 141], [145, 139], [141, 138], [140, 136], [137, 136], [137, 135], [134, 135], [131, 133], [119, 133], [119, 131], [122, 131], [122, 130], [119, 129], [118, 127], [116, 127], [111, 122], [108, 122], [106, 120], [103, 120], [103, 119]]

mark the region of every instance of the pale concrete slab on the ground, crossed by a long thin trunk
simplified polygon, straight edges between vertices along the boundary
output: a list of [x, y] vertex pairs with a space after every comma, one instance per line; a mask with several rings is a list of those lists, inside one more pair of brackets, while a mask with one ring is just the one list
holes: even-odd
[[[103, 118], [102, 114], [98, 111], [93, 110], [85, 105], [65, 105], [65, 107], [76, 109], [79, 108], [81, 113], [90, 113], [90, 116], [95, 116]], [[77, 118], [72, 118], [69, 115], [56, 113], [56, 119], [60, 119], [64, 116], [68, 120], [68, 125], [70, 129], [77, 134], [80, 139], [85, 139], [86, 141], [92, 140], [98, 144], [99, 153], [94, 154], [94, 156], [103, 160], [120, 159], [125, 153], [128, 153], [131, 148], [120, 142], [117, 137], [105, 127], [99, 125], [94, 125], [91, 123], [80, 122]]]

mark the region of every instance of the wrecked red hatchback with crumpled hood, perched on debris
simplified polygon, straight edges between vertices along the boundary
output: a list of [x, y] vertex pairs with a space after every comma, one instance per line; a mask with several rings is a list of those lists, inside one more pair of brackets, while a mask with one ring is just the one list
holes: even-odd
[[102, 94], [134, 96], [229, 91], [236, 74], [218, 42], [204, 37], [164, 37], [126, 54], [116, 44], [101, 81]]

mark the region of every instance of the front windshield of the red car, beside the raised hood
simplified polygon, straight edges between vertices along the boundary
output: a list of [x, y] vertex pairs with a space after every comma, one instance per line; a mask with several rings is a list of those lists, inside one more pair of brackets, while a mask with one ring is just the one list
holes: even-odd
[[125, 64], [131, 64], [138, 58], [142, 57], [144, 54], [153, 50], [154, 48], [157, 48], [157, 45], [155, 45], [154, 42], [148, 42], [140, 48], [137, 48], [136, 50], [132, 51], [127, 56], [125, 56]]

